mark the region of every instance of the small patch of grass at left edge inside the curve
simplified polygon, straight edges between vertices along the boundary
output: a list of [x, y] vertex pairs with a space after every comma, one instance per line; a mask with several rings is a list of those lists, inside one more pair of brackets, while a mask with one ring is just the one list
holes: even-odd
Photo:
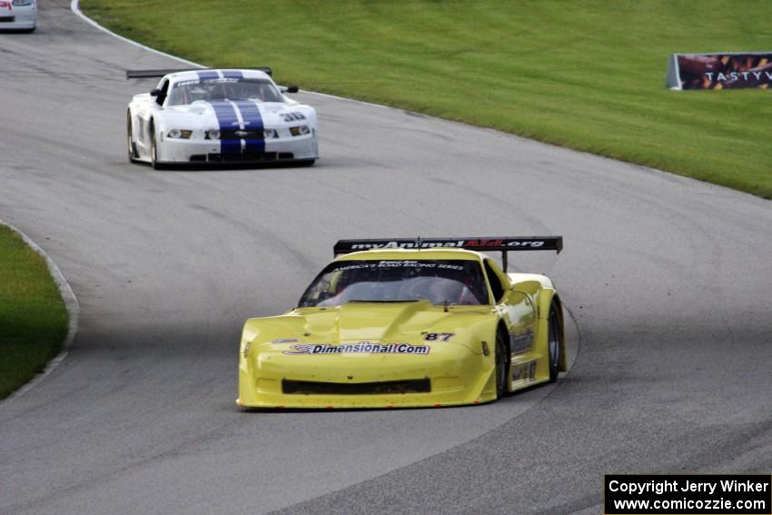
[[44, 259], [0, 225], [0, 399], [61, 348], [67, 311]]

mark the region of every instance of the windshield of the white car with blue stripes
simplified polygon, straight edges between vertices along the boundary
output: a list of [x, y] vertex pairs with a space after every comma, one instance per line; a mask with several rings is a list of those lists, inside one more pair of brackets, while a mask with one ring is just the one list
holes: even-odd
[[196, 100], [284, 102], [276, 86], [265, 79], [193, 79], [172, 84], [167, 105], [193, 104]]

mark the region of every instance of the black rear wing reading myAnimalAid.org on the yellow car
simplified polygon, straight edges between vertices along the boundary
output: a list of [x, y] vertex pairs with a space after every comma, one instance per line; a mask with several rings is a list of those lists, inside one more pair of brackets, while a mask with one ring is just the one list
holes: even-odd
[[356, 253], [371, 249], [438, 249], [456, 248], [468, 251], [498, 251], [501, 263], [507, 270], [507, 253], [510, 251], [555, 251], [563, 250], [562, 236], [471, 236], [462, 238], [391, 238], [378, 240], [341, 240], [335, 243], [332, 252]]

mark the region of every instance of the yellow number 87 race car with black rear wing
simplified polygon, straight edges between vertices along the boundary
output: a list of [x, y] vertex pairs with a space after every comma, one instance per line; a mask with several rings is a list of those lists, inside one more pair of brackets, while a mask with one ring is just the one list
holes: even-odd
[[[298, 307], [244, 324], [248, 408], [478, 404], [566, 370], [563, 311], [544, 275], [507, 273], [510, 251], [562, 238], [344, 240]], [[484, 253], [500, 251], [504, 271]]]

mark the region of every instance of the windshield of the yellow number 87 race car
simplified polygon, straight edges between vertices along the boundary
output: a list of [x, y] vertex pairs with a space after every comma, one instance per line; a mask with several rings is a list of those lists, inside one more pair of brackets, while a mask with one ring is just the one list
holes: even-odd
[[470, 260], [332, 262], [303, 293], [298, 305], [412, 301], [430, 301], [434, 305], [487, 304], [488, 289], [480, 263]]

